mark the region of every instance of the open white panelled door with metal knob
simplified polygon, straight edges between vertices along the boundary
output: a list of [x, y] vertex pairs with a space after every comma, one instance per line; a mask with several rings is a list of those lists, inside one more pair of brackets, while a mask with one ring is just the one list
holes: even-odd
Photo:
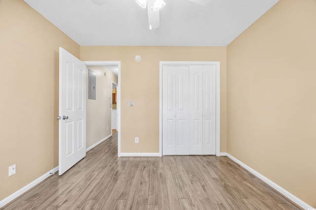
[[59, 175], [85, 156], [85, 63], [59, 48]]

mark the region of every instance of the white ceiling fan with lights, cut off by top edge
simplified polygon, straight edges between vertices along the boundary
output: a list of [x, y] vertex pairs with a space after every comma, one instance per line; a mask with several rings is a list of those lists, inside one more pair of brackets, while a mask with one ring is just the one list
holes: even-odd
[[[92, 0], [93, 3], [102, 6], [108, 0]], [[135, 0], [138, 5], [142, 8], [147, 7], [148, 11], [148, 25], [149, 30], [154, 30], [159, 28], [159, 10], [166, 5], [163, 0]], [[211, 0], [190, 0], [199, 5], [206, 6]]]

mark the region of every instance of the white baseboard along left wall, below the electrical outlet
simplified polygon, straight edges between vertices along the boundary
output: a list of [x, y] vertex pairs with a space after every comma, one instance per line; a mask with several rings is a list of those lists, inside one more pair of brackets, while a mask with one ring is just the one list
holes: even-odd
[[28, 191], [29, 189], [31, 189], [32, 187], [36, 186], [38, 183], [40, 183], [41, 181], [45, 180], [46, 178], [48, 178], [49, 176], [51, 176], [50, 173], [55, 173], [58, 171], [58, 166], [52, 170], [50, 170], [49, 172], [45, 173], [44, 175], [42, 175], [41, 177], [39, 177], [38, 179], [32, 181], [31, 183], [27, 184], [26, 186], [22, 187], [21, 189], [19, 189], [18, 191], [16, 191], [15, 193], [9, 195], [8, 197], [4, 198], [2, 201], [0, 201], [0, 208], [4, 207], [5, 205], [7, 205], [8, 203], [10, 203], [11, 201], [13, 201], [14, 199], [16, 199], [17, 197], [19, 197], [20, 195], [22, 195], [23, 193], [25, 193], [26, 191]]

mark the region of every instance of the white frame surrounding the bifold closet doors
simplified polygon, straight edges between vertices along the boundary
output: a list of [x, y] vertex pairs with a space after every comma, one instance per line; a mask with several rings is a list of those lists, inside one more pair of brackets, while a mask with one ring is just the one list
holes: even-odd
[[219, 61], [160, 61], [159, 62], [159, 156], [162, 156], [162, 66], [163, 65], [216, 65], [216, 128], [215, 154], [220, 156], [221, 133], [221, 97], [220, 97], [220, 62]]

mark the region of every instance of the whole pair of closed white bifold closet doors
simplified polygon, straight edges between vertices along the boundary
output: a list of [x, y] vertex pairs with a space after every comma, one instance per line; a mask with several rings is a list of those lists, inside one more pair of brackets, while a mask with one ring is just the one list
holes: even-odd
[[215, 65], [162, 66], [162, 154], [215, 154]]

